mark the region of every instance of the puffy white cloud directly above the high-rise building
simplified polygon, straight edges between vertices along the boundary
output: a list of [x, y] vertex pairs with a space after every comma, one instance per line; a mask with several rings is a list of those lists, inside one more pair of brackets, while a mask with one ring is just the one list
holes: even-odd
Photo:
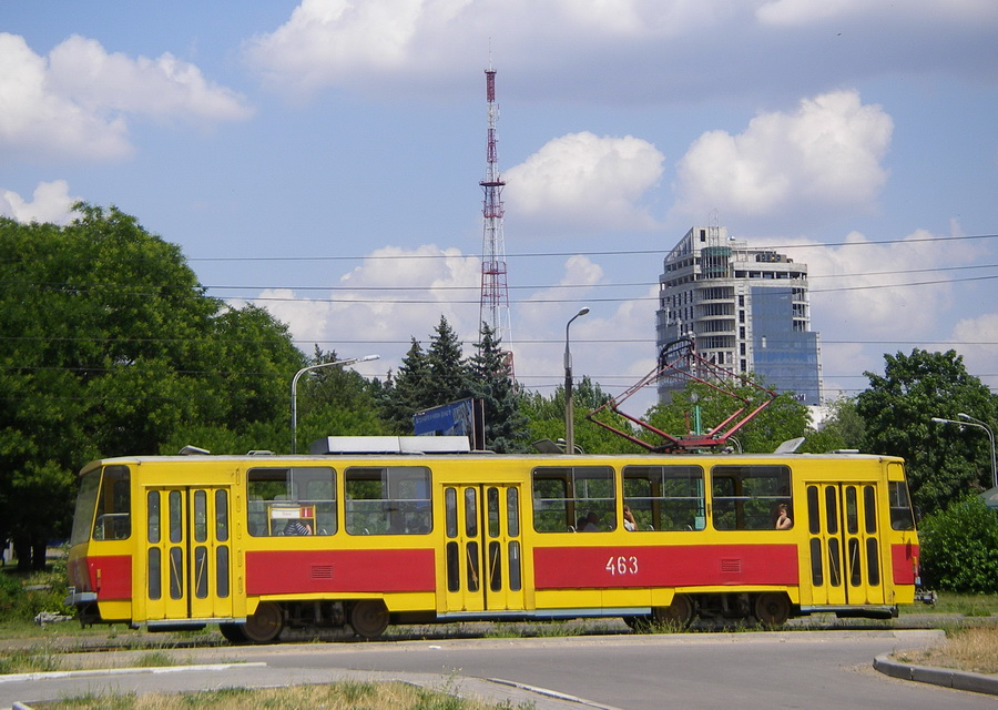
[[704, 133], [679, 161], [676, 212], [721, 209], [729, 220], [790, 210], [868, 209], [887, 179], [880, 164], [894, 122], [839, 91], [794, 113], [761, 113], [745, 131]]

